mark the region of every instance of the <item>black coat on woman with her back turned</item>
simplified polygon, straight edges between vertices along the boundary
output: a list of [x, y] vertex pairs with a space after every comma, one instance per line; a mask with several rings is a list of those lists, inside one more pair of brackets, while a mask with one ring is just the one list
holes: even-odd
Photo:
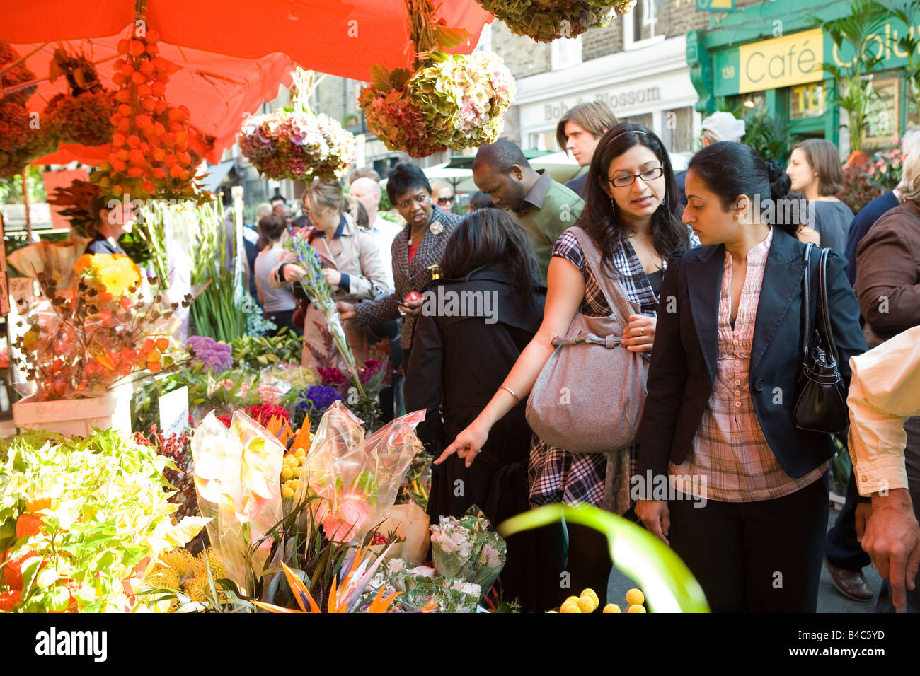
[[[427, 410], [416, 431], [435, 457], [495, 395], [540, 327], [546, 300], [546, 287], [535, 287], [533, 304], [525, 307], [508, 274], [499, 268], [475, 270], [466, 280], [432, 281], [425, 292], [436, 294], [438, 287], [444, 292], [496, 292], [498, 321], [487, 324], [483, 317], [426, 316], [423, 307], [406, 374], [406, 409]], [[492, 485], [502, 468], [523, 464], [526, 470], [531, 431], [524, 419], [525, 405], [522, 401], [495, 424], [470, 468], [455, 454], [434, 466], [429, 499], [432, 519], [461, 516], [474, 503], [495, 524], [513, 515], [513, 511], [496, 511], [497, 500], [504, 498], [492, 490]], [[463, 481], [462, 492], [455, 489], [457, 479]], [[526, 493], [512, 501], [515, 506], [509, 510], [527, 508]]]

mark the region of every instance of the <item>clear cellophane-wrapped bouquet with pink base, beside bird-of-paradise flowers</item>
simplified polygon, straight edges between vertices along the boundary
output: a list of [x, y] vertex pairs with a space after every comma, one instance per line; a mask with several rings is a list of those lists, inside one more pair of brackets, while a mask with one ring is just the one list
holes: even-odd
[[316, 495], [315, 519], [333, 542], [360, 541], [383, 521], [420, 446], [424, 411], [393, 420], [364, 439], [361, 420], [336, 401], [319, 423], [294, 503]]

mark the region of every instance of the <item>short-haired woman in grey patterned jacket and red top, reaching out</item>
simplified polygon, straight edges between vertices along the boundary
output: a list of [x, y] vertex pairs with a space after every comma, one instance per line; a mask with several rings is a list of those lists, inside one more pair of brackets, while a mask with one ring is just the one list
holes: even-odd
[[[408, 364], [416, 318], [421, 314], [421, 290], [431, 281], [434, 266], [441, 263], [447, 240], [461, 217], [431, 201], [431, 184], [418, 167], [409, 162], [394, 166], [386, 179], [386, 194], [406, 219], [406, 227], [393, 240], [393, 281], [396, 292], [360, 304], [339, 303], [342, 319], [370, 326], [404, 317], [400, 345], [403, 363]], [[416, 292], [419, 297], [409, 298]]]

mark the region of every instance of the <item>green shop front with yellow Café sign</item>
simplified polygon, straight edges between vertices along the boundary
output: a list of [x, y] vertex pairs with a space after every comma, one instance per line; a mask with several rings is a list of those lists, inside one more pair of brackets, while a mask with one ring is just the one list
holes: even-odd
[[[836, 82], [822, 63], [845, 67], [858, 58], [840, 49], [814, 17], [845, 17], [848, 2], [774, 0], [745, 6], [710, 21], [707, 30], [687, 34], [687, 64], [699, 100], [696, 110], [763, 108], [776, 131], [791, 141], [822, 138], [849, 147], [845, 110], [832, 104]], [[916, 102], [903, 77], [907, 54], [893, 43], [913, 30], [920, 35], [920, 13], [908, 28], [893, 17], [863, 43], [865, 54], [881, 54], [872, 88], [879, 97], [868, 116], [864, 150], [889, 147], [904, 129], [920, 123]], [[841, 129], [841, 125], [844, 129]]]

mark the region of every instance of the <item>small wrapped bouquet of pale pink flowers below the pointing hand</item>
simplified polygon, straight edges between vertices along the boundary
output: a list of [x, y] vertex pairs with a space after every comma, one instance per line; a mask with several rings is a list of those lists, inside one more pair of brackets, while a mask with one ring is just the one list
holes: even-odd
[[431, 526], [431, 557], [438, 575], [473, 582], [489, 590], [505, 565], [508, 550], [489, 520], [473, 505], [459, 519], [441, 517]]

